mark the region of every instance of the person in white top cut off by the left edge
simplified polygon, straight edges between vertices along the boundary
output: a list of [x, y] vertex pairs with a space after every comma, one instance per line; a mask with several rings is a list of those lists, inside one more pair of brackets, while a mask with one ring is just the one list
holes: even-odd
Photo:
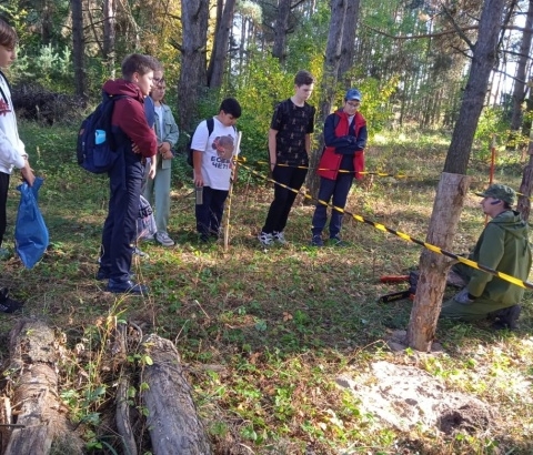
[[[8, 68], [17, 59], [17, 32], [0, 19], [0, 68]], [[8, 256], [2, 242], [7, 226], [9, 179], [13, 168], [20, 169], [22, 178], [30, 186], [33, 185], [36, 176], [28, 162], [24, 144], [19, 138], [11, 90], [6, 75], [0, 71], [0, 259]]]

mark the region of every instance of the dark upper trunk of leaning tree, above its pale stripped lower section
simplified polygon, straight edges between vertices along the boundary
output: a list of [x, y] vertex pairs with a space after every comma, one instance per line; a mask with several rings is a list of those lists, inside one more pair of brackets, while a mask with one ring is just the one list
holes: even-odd
[[496, 61], [504, 3], [504, 0], [485, 0], [483, 3], [469, 81], [463, 93], [452, 142], [447, 150], [444, 172], [466, 173], [475, 129], [485, 101], [489, 78]]

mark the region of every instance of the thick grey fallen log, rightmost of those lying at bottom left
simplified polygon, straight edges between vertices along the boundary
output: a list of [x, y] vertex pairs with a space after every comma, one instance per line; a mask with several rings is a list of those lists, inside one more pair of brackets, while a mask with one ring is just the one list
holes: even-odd
[[142, 397], [149, 412], [147, 424], [154, 455], [211, 454], [178, 350], [172, 342], [158, 335], [148, 336], [143, 346], [153, 361], [144, 367], [142, 377], [148, 390]]

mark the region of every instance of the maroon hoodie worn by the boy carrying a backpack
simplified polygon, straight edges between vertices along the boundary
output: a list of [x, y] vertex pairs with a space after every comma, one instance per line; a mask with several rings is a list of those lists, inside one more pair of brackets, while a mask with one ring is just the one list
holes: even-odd
[[[148, 125], [143, 108], [144, 97], [140, 89], [132, 82], [117, 79], [107, 81], [103, 84], [103, 91], [111, 95], [128, 95], [115, 102], [111, 124], [119, 128], [131, 142], [139, 146], [140, 155], [145, 158], [155, 155], [158, 138]], [[131, 148], [129, 151], [132, 152]]]

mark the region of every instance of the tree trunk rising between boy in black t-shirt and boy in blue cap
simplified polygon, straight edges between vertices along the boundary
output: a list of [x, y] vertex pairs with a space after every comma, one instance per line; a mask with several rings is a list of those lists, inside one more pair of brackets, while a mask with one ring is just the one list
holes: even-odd
[[[316, 123], [324, 124], [325, 118], [331, 112], [331, 107], [335, 100], [336, 84], [339, 82], [339, 62], [341, 59], [342, 37], [346, 20], [348, 0], [333, 0], [331, 2], [330, 32], [328, 34], [328, 44], [325, 49], [324, 75], [322, 78], [322, 99], [319, 105], [319, 117]], [[316, 140], [318, 149], [311, 153], [309, 160], [310, 172], [308, 172], [306, 188], [314, 198], [319, 193], [320, 179], [314, 171], [320, 162], [322, 149], [324, 148], [324, 134], [322, 127]]]

